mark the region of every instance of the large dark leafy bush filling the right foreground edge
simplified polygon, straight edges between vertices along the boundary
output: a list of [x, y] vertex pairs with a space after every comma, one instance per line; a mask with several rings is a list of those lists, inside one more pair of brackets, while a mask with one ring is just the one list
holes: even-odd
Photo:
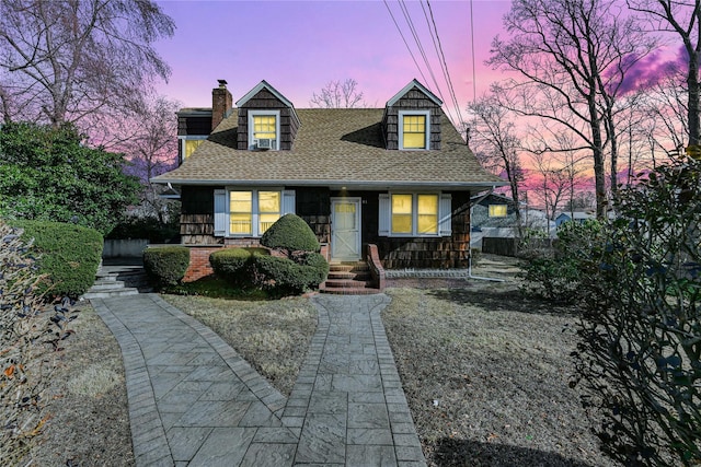
[[619, 190], [581, 260], [574, 353], [604, 451], [622, 465], [701, 464], [701, 162]]

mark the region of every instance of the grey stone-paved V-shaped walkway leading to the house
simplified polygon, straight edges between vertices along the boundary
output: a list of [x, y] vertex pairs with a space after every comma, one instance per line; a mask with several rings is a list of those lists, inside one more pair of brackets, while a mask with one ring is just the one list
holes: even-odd
[[288, 399], [158, 295], [93, 300], [122, 347], [137, 466], [425, 466], [380, 319], [390, 299], [312, 301]]

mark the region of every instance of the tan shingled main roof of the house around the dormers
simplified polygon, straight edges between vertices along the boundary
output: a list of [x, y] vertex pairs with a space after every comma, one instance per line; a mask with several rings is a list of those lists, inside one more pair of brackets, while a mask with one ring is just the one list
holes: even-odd
[[383, 108], [298, 109], [289, 151], [237, 150], [238, 112], [183, 164], [152, 179], [173, 185], [441, 187], [480, 190], [505, 185], [487, 174], [441, 112], [441, 149], [384, 149]]

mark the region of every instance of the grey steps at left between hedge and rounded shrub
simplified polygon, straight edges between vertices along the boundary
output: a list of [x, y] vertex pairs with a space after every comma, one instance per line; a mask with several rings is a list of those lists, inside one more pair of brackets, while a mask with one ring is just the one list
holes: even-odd
[[95, 275], [95, 283], [83, 299], [108, 299], [150, 291], [141, 265], [102, 265]]

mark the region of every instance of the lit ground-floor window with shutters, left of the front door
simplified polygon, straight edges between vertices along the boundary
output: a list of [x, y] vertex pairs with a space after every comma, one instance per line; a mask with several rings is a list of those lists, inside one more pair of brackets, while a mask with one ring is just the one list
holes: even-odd
[[215, 236], [257, 237], [287, 213], [295, 213], [294, 190], [215, 190]]

